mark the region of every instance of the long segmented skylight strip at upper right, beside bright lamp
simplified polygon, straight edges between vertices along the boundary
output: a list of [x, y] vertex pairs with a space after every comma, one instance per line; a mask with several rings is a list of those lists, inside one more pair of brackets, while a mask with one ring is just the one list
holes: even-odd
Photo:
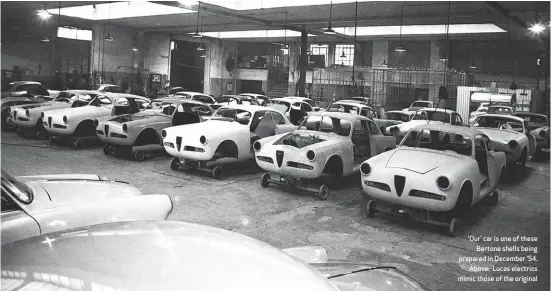
[[[333, 27], [336, 32], [354, 35], [354, 27]], [[506, 32], [493, 23], [483, 24], [450, 24], [450, 34], [477, 34], [477, 33], [498, 33]], [[357, 35], [379, 36], [399, 35], [400, 26], [359, 26]], [[404, 25], [402, 35], [429, 35], [446, 34], [446, 25]]]

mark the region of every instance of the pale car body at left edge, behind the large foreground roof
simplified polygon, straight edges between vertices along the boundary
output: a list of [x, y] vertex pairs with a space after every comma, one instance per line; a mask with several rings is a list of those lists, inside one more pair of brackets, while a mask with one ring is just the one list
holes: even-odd
[[2, 244], [69, 228], [166, 219], [172, 201], [98, 175], [12, 177], [2, 171]]

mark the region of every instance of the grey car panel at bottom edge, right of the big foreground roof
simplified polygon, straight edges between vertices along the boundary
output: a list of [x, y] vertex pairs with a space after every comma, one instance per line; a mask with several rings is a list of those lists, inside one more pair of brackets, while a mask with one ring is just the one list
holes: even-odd
[[311, 264], [340, 291], [421, 291], [429, 290], [393, 266], [329, 261]]

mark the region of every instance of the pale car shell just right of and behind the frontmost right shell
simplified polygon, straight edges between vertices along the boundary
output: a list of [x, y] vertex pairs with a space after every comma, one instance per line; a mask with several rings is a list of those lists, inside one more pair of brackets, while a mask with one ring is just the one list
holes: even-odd
[[[519, 122], [522, 124], [522, 132], [477, 126], [478, 119], [483, 117], [498, 117], [511, 120], [512, 122]], [[495, 151], [504, 152], [506, 154], [507, 164], [509, 165], [520, 162], [523, 151], [527, 153], [526, 161], [531, 160], [536, 154], [536, 139], [529, 133], [527, 122], [520, 117], [502, 114], [483, 114], [477, 116], [472, 127], [483, 132], [490, 138]], [[516, 148], [509, 146], [509, 142], [512, 140], [518, 143]]]

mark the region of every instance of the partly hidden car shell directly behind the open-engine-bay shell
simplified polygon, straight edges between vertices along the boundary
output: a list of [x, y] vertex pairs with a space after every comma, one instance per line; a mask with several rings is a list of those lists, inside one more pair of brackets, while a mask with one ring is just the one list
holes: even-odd
[[[382, 112], [384, 109], [380, 108], [379, 112]], [[373, 107], [367, 105], [363, 101], [357, 100], [339, 100], [331, 103], [325, 109], [327, 112], [343, 112], [343, 113], [352, 113], [360, 116], [365, 116], [372, 118], [381, 132], [385, 133], [384, 130], [388, 126], [399, 124], [399, 122], [390, 119], [383, 119], [383, 115], [377, 113]]]

